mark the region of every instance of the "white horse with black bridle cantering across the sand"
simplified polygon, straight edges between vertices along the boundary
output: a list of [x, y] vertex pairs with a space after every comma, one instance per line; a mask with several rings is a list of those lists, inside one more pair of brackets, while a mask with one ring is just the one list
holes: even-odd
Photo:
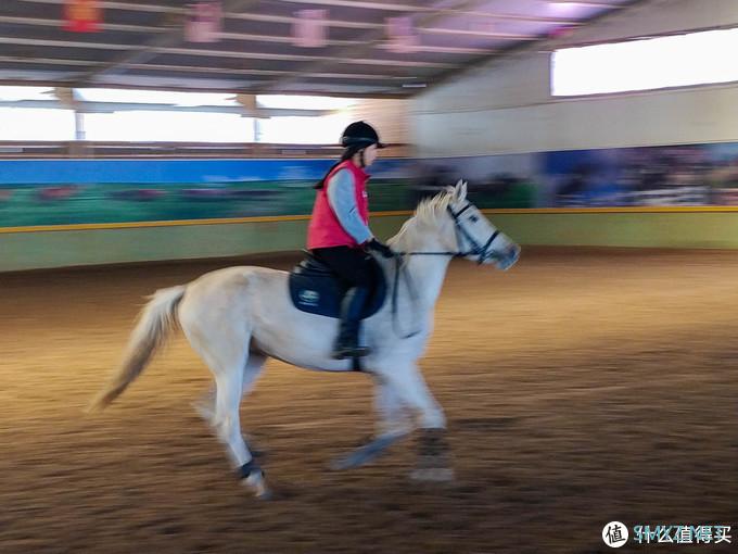
[[[412, 476], [450, 479], [444, 413], [425, 386], [418, 358], [431, 335], [433, 310], [451, 257], [507, 269], [518, 260], [520, 248], [467, 200], [462, 181], [421, 202], [389, 244], [400, 253], [402, 263], [379, 260], [387, 277], [387, 300], [364, 320], [361, 329], [371, 349], [361, 364], [376, 383], [377, 437], [333, 467], [368, 462], [417, 425], [421, 456]], [[400, 272], [404, 278], [395, 276]], [[310, 369], [352, 369], [352, 361], [331, 358], [338, 320], [295, 309], [288, 292], [288, 275], [265, 267], [229, 267], [188, 285], [158, 290], [141, 312], [120, 368], [90, 410], [101, 410], [118, 396], [179, 324], [215, 377], [214, 404], [201, 414], [228, 445], [241, 482], [257, 498], [268, 498], [264, 473], [241, 435], [241, 398], [268, 357]], [[413, 332], [406, 335], [408, 330]]]

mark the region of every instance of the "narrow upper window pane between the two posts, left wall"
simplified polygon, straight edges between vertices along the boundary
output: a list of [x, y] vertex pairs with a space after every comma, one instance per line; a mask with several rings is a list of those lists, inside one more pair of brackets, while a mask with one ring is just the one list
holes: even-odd
[[75, 96], [87, 102], [133, 104], [171, 104], [179, 106], [239, 105], [236, 95], [219, 92], [176, 92], [168, 90], [135, 90], [122, 88], [77, 88]]

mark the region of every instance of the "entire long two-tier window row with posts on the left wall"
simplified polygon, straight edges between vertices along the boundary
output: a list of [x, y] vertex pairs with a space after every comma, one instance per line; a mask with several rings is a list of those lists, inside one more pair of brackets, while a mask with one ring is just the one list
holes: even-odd
[[357, 102], [297, 95], [0, 87], [0, 140], [335, 144]]

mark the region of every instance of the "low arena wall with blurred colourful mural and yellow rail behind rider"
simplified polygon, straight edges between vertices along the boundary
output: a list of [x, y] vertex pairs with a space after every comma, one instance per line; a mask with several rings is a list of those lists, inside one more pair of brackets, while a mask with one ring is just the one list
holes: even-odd
[[[0, 270], [300, 250], [330, 164], [3, 160]], [[736, 167], [735, 142], [391, 159], [369, 185], [372, 227], [390, 237], [422, 198], [466, 179], [524, 245], [736, 248]]]

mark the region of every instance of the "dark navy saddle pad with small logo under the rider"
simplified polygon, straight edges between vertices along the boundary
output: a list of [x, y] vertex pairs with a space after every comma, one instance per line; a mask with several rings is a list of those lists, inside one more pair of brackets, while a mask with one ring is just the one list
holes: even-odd
[[[379, 265], [376, 272], [378, 285], [367, 302], [362, 319], [376, 314], [386, 295], [386, 281]], [[345, 291], [330, 267], [307, 252], [305, 260], [290, 272], [290, 297], [302, 312], [338, 318], [341, 316], [341, 299]]]

